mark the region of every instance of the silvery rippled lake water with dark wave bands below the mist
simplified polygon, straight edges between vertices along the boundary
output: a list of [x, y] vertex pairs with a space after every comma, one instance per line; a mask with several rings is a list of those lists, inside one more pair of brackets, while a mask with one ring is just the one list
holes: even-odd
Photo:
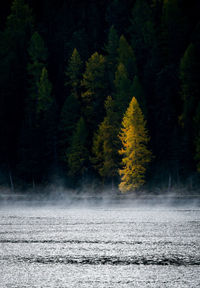
[[200, 287], [200, 210], [0, 208], [0, 287]]

